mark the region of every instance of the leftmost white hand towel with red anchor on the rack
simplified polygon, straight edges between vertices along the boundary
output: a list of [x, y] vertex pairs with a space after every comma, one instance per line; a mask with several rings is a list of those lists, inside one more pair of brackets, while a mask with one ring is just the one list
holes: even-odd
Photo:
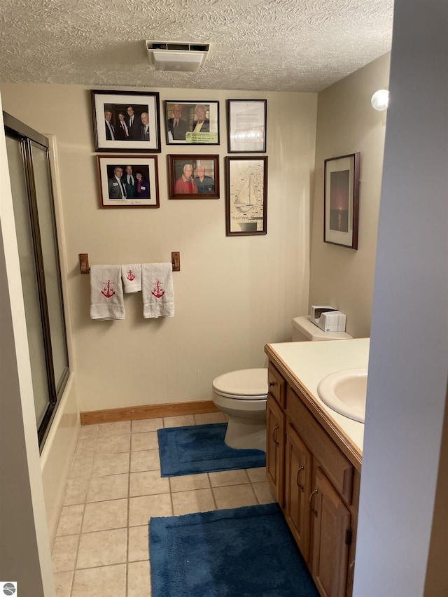
[[90, 318], [125, 318], [120, 265], [90, 266]]

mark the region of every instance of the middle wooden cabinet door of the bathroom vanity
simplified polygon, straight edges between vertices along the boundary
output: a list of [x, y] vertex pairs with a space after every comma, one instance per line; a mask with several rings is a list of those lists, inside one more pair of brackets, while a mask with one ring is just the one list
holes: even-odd
[[285, 516], [302, 556], [309, 558], [311, 453], [290, 425], [286, 428]]

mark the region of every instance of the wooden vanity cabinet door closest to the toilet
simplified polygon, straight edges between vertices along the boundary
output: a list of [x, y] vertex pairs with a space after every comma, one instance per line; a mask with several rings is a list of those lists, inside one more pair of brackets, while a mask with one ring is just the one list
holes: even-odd
[[274, 398], [267, 396], [266, 475], [277, 502], [283, 507], [285, 415]]

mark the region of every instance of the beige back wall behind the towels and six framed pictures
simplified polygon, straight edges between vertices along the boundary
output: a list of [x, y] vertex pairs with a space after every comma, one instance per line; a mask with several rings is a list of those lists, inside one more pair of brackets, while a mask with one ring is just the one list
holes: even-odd
[[[267, 98], [268, 234], [225, 237], [226, 98]], [[266, 342], [290, 337], [307, 312], [309, 203], [316, 94], [160, 90], [165, 99], [220, 101], [221, 146], [165, 145], [158, 156], [160, 209], [99, 209], [90, 91], [76, 85], [1, 85], [3, 108], [55, 134], [68, 265], [72, 369], [80, 409], [211, 398], [216, 375], [262, 367]], [[220, 154], [221, 198], [169, 200], [167, 153]], [[91, 321], [91, 264], [160, 262], [181, 252], [176, 315], [144, 320], [141, 295], [125, 297], [125, 321]]]

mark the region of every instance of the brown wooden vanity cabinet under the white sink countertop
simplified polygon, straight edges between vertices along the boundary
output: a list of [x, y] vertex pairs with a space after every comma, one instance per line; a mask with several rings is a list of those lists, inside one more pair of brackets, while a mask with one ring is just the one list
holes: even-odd
[[300, 391], [269, 363], [271, 370], [277, 392], [267, 400], [267, 479], [321, 596], [349, 597], [359, 472]]

